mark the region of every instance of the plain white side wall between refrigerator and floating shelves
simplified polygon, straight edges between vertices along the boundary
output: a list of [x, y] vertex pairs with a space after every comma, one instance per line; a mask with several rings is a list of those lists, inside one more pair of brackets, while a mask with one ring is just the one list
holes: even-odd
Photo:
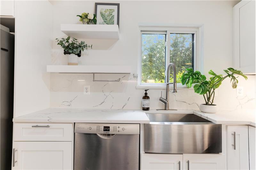
[[15, 2], [14, 117], [50, 106], [52, 4]]

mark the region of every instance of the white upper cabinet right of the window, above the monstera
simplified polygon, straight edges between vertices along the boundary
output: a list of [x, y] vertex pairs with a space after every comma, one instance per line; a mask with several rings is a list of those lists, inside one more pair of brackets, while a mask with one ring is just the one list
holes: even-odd
[[255, 73], [255, 1], [241, 1], [233, 8], [234, 68]]

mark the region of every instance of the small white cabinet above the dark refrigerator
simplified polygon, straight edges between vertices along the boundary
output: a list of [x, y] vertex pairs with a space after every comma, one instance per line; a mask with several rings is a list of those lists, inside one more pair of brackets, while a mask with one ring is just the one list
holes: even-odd
[[14, 0], [1, 0], [0, 1], [0, 15], [1, 16], [14, 16]]

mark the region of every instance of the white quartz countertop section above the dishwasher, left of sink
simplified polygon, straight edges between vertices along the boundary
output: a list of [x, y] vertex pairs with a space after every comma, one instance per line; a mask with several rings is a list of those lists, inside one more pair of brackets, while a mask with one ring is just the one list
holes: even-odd
[[48, 108], [13, 118], [13, 122], [149, 123], [141, 110]]

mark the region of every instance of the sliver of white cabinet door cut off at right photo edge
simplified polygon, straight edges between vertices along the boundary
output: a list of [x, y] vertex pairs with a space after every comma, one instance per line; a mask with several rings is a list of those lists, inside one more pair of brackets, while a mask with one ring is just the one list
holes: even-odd
[[249, 160], [250, 169], [255, 170], [255, 128], [249, 126]]

